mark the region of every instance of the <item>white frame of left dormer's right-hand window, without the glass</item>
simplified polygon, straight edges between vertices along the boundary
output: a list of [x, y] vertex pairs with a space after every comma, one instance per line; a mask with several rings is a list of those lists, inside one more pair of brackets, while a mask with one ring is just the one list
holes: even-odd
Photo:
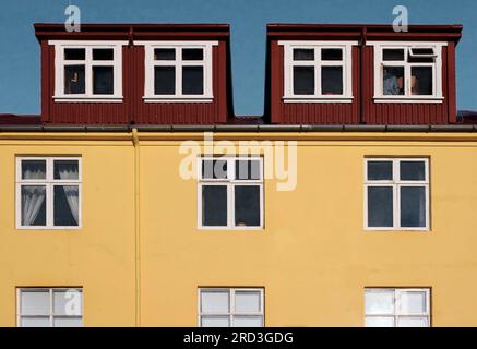
[[[135, 45], [144, 46], [145, 51], [145, 76], [144, 96], [145, 103], [212, 103], [213, 94], [213, 47], [218, 41], [138, 41]], [[154, 49], [169, 48], [176, 50], [176, 59], [169, 61], [154, 60]], [[202, 61], [183, 61], [183, 48], [201, 48], [204, 52]], [[176, 67], [176, 94], [156, 95], [154, 91], [154, 68], [158, 65]], [[202, 95], [182, 94], [182, 67], [202, 65], [204, 68], [204, 89]]]

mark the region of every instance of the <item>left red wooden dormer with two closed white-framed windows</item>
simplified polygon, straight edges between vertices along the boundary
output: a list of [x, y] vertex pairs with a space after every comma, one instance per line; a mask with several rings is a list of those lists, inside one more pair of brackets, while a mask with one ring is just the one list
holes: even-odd
[[35, 24], [41, 122], [216, 124], [231, 117], [225, 24]]

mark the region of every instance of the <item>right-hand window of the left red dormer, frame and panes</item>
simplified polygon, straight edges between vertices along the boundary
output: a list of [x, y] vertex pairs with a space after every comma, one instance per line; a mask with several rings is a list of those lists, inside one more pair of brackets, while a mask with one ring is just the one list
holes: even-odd
[[212, 101], [216, 41], [154, 41], [145, 46], [145, 101]]

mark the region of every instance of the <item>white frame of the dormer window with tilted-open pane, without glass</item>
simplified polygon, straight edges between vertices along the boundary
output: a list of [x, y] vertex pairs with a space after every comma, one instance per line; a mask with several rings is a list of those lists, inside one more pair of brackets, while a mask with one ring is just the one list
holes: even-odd
[[[374, 51], [374, 103], [434, 103], [441, 104], [444, 100], [442, 92], [442, 48], [448, 43], [433, 41], [368, 41], [368, 46], [373, 47]], [[409, 51], [416, 48], [431, 48], [434, 51], [436, 60], [433, 63], [409, 63], [407, 57]], [[383, 61], [383, 49], [403, 49], [404, 61]], [[414, 55], [415, 57], [419, 57]], [[424, 57], [424, 56], [421, 56]], [[428, 56], [426, 56], [428, 57]], [[383, 94], [383, 67], [403, 65], [404, 67], [404, 95], [393, 96]], [[432, 67], [432, 95], [413, 95], [410, 85], [412, 67]]]

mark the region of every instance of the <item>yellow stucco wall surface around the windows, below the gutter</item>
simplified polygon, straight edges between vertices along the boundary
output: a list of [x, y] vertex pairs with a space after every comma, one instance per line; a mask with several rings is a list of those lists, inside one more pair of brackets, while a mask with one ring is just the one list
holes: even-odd
[[[477, 326], [473, 134], [216, 135], [298, 141], [296, 190], [266, 180], [265, 228], [247, 231], [198, 230], [198, 185], [178, 171], [190, 137], [0, 133], [0, 326], [21, 286], [83, 287], [86, 326], [196, 326], [201, 286], [264, 287], [266, 326], [362, 326], [365, 287], [430, 287], [432, 326]], [[15, 230], [24, 154], [82, 156], [81, 230]], [[363, 230], [366, 156], [430, 158], [431, 231]]]

